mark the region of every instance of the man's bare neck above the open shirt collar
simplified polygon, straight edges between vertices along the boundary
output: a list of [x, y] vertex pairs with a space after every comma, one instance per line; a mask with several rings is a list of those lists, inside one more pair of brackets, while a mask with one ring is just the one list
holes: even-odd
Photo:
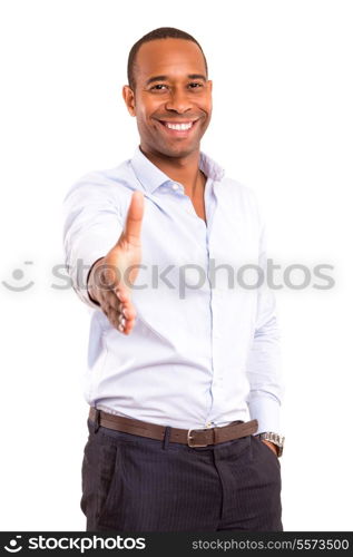
[[205, 175], [199, 169], [199, 149], [185, 157], [167, 157], [140, 147], [144, 155], [174, 182], [184, 186], [185, 194], [195, 197], [198, 188], [205, 184]]

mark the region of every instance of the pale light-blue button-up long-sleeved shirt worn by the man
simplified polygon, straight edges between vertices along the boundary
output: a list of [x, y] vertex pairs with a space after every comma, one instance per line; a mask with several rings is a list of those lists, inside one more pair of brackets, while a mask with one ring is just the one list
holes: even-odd
[[[280, 433], [275, 297], [266, 280], [254, 287], [262, 276], [254, 270], [266, 270], [265, 225], [252, 188], [225, 177], [204, 153], [199, 168], [207, 224], [183, 185], [139, 147], [69, 189], [66, 265], [91, 314], [85, 398], [150, 423], [198, 429], [256, 418], [257, 432]], [[89, 299], [87, 275], [118, 241], [136, 189], [145, 196], [143, 260], [131, 290], [137, 319], [125, 335]]]

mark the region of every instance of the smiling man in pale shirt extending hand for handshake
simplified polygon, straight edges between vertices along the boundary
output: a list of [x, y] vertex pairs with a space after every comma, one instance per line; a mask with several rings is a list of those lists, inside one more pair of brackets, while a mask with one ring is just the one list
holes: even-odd
[[128, 81], [140, 145], [65, 201], [66, 264], [92, 312], [87, 530], [282, 530], [275, 301], [245, 281], [265, 270], [255, 195], [200, 152], [212, 81], [192, 36], [143, 37]]

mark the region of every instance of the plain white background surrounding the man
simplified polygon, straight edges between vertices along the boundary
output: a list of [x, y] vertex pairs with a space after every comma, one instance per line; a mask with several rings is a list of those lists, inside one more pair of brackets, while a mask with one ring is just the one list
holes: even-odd
[[[202, 148], [253, 187], [283, 267], [335, 287], [278, 292], [285, 530], [352, 530], [352, 2], [2, 1], [1, 530], [85, 530], [79, 507], [89, 313], [51, 286], [61, 204], [138, 145], [121, 98], [133, 43], [163, 26], [200, 42], [214, 80]], [[32, 261], [33, 263], [26, 264]], [[21, 280], [14, 270], [24, 273]]]

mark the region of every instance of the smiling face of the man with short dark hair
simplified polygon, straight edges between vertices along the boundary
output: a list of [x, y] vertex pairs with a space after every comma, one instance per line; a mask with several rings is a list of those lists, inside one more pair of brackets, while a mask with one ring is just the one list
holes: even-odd
[[157, 39], [136, 56], [135, 91], [124, 99], [136, 116], [140, 146], [163, 157], [187, 157], [199, 143], [212, 116], [212, 81], [198, 46], [185, 39]]

